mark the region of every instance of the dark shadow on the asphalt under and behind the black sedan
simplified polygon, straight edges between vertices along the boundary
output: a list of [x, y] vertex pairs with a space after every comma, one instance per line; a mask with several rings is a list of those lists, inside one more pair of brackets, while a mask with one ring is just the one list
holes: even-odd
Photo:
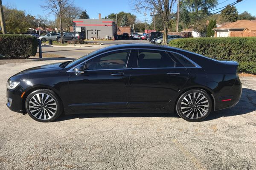
[[[243, 88], [241, 99], [239, 103], [232, 107], [221, 111], [215, 111], [209, 114], [204, 121], [218, 119], [220, 117], [237, 116], [247, 114], [256, 111], [256, 91], [248, 88]], [[179, 117], [177, 113], [85, 113], [85, 114], [73, 114], [62, 115], [56, 122], [65, 121], [70, 119], [84, 119], [84, 118], [113, 118], [113, 117]], [[181, 118], [180, 118], [181, 119]]]

